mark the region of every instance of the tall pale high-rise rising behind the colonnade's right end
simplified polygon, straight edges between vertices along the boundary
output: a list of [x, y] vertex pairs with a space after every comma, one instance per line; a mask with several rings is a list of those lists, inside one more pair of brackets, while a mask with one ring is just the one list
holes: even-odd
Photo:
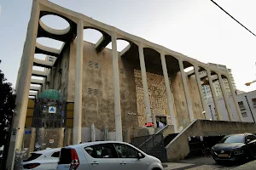
[[[230, 80], [231, 80], [232, 85], [233, 85], [233, 88], [236, 91], [236, 83], [235, 83], [234, 77], [232, 75], [231, 69], [228, 69], [226, 65], [218, 65], [218, 64], [214, 64], [214, 63], [207, 63], [207, 64], [211, 65], [213, 67], [216, 67], [218, 69], [221, 69], [223, 71], [228, 71], [229, 75], [230, 75]], [[201, 74], [204, 74], [204, 71], [201, 71]], [[226, 89], [226, 93], [230, 94], [229, 82], [226, 79], [224, 79], [223, 82], [224, 82], [224, 88]], [[218, 81], [213, 82], [213, 86], [215, 88], [215, 92], [216, 92], [217, 97], [218, 98], [222, 97], [222, 92], [221, 92], [221, 88], [220, 88], [219, 82]], [[203, 89], [203, 94], [204, 94], [205, 99], [212, 98], [212, 92], [211, 92], [211, 88], [210, 88], [209, 85], [202, 86], [202, 89]]]

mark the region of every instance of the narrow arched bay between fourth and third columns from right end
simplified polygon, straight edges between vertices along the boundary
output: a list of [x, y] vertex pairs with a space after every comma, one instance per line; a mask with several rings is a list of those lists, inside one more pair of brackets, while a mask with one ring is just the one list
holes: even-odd
[[208, 117], [210, 120], [218, 120], [218, 115], [216, 112], [214, 101], [212, 99], [212, 89], [210, 87], [209, 79], [207, 77], [207, 70], [199, 66], [198, 71], [199, 71], [199, 77], [201, 80], [201, 88], [204, 94], [204, 99], [207, 104], [206, 117]]

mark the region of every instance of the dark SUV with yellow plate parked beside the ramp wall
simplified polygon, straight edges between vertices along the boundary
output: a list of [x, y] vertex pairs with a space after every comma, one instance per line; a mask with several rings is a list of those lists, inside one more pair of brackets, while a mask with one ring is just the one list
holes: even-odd
[[217, 162], [247, 161], [256, 156], [256, 136], [251, 133], [225, 136], [212, 146], [212, 157]]

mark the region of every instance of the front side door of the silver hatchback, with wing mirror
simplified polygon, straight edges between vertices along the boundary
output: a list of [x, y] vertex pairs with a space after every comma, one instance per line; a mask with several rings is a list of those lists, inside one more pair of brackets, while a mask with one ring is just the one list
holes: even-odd
[[[148, 169], [149, 163], [147, 162], [142, 153], [128, 144], [114, 144], [115, 150], [119, 155], [120, 170], [136, 170], [136, 169]], [[138, 154], [142, 157], [139, 159]]]

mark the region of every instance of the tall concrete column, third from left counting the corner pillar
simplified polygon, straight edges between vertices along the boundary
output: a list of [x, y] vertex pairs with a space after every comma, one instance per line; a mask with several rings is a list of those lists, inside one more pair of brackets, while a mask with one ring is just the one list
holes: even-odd
[[112, 59], [113, 59], [113, 96], [114, 96], [114, 117], [115, 117], [115, 139], [123, 141], [120, 91], [119, 91], [119, 56], [117, 54], [116, 33], [113, 32], [112, 40]]

